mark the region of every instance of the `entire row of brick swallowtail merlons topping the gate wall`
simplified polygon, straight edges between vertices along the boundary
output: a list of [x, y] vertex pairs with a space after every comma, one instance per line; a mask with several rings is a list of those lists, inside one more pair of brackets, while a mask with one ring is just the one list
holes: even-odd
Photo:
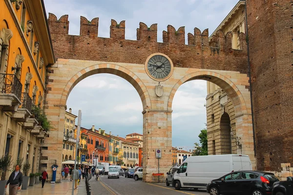
[[[57, 17], [49, 13], [49, 27], [51, 34], [66, 34], [68, 35], [69, 21], [68, 15], [63, 15], [59, 20]], [[94, 18], [91, 21], [81, 16], [80, 21], [80, 36], [98, 37], [99, 18]], [[152, 24], [148, 27], [144, 22], [139, 23], [139, 28], [136, 29], [136, 37], [138, 41], [157, 42], [158, 24]], [[242, 33], [243, 34], [243, 33]], [[232, 48], [231, 37], [229, 32], [224, 35], [223, 32], [218, 31], [212, 36], [209, 41], [209, 29], [201, 32], [200, 29], [194, 28], [194, 32], [188, 33], [188, 45], [196, 47], [219, 47], [220, 50], [230, 50]], [[116, 20], [111, 20], [110, 25], [111, 39], [125, 39], [125, 20], [118, 23]], [[246, 50], [245, 34], [240, 35], [241, 49]], [[185, 44], [185, 26], [176, 29], [172, 25], [167, 26], [167, 31], [163, 31], [163, 43], [170, 44]]]

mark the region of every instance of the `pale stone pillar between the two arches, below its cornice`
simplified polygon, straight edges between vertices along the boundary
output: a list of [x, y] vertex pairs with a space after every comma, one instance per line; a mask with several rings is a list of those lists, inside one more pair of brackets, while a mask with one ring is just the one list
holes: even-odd
[[159, 173], [156, 149], [161, 149], [160, 173], [166, 174], [172, 166], [172, 111], [143, 111], [144, 115], [144, 148], [143, 148], [143, 180], [152, 182], [152, 174]]

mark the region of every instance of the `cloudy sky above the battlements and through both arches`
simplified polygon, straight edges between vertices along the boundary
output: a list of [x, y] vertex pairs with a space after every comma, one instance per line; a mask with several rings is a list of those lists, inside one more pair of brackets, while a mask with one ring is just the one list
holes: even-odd
[[[109, 38], [111, 19], [126, 20], [126, 39], [136, 40], [136, 28], [142, 21], [150, 26], [158, 23], [158, 41], [162, 31], [171, 24], [176, 29], [185, 26], [187, 33], [194, 27], [211, 34], [228, 15], [238, 0], [44, 0], [47, 14], [59, 19], [69, 15], [69, 34], [79, 35], [80, 16], [87, 20], [99, 18], [99, 37]], [[189, 149], [199, 142], [198, 134], [205, 128], [206, 82], [189, 81], [176, 92], [172, 114], [173, 146]], [[105, 129], [108, 133], [125, 137], [141, 133], [142, 103], [134, 87], [123, 78], [99, 74], [85, 78], [69, 95], [67, 108], [73, 114], [83, 112], [82, 126]]]

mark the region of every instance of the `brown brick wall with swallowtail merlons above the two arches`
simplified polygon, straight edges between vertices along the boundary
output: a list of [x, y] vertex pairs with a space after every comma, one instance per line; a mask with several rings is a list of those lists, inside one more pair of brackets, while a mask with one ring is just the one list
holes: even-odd
[[162, 43], [157, 42], [156, 24], [147, 28], [141, 22], [137, 30], [138, 40], [126, 40], [125, 21], [118, 24], [115, 20], [111, 20], [110, 38], [97, 37], [98, 18], [88, 22], [81, 17], [81, 36], [68, 35], [68, 15], [57, 20], [54, 14], [49, 13], [48, 22], [57, 59], [144, 64], [150, 54], [160, 52], [166, 54], [175, 67], [248, 72], [244, 34], [241, 37], [243, 50], [233, 50], [230, 33], [226, 37], [222, 32], [217, 33], [215, 39], [218, 41], [218, 47], [209, 47], [208, 29], [202, 33], [194, 28], [194, 34], [188, 35], [188, 45], [185, 45], [184, 27], [176, 31], [173, 26], [168, 25], [167, 32], [163, 32]]

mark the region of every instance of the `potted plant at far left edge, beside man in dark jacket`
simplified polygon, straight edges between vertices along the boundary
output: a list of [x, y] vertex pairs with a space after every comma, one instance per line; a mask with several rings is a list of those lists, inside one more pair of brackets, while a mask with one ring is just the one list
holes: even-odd
[[5, 154], [0, 158], [0, 195], [5, 193], [5, 185], [7, 180], [5, 180], [6, 171], [9, 171], [12, 165], [11, 155]]

